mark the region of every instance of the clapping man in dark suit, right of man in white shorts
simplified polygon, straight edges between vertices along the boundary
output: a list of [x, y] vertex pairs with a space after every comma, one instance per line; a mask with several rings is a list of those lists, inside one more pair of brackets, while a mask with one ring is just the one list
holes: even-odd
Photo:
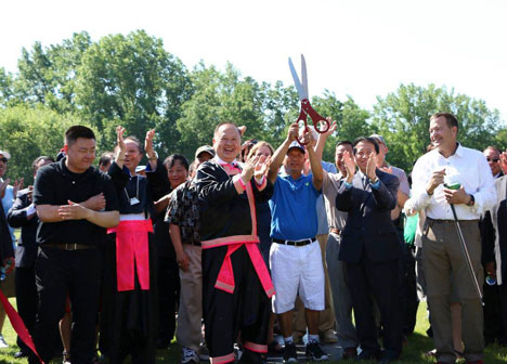
[[[376, 168], [378, 152], [378, 144], [372, 138], [354, 141], [355, 164], [346, 153], [347, 180], [338, 191], [336, 207], [349, 213], [341, 235], [339, 259], [347, 263], [355, 327], [363, 349], [358, 360], [379, 359], [379, 363], [386, 364], [398, 360], [402, 350], [398, 265], [402, 250], [391, 222], [400, 181]], [[382, 353], [372, 296], [380, 310], [384, 326], [386, 350]]]

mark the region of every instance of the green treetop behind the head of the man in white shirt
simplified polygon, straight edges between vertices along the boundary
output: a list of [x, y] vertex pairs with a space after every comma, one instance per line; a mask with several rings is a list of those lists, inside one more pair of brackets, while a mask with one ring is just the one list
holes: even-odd
[[[490, 110], [481, 100], [454, 94], [454, 90], [401, 84], [385, 99], [377, 98], [372, 126], [389, 147], [388, 159], [406, 171], [426, 152], [429, 119], [439, 112], [454, 114], [459, 121], [458, 140], [465, 146], [482, 151], [497, 142], [496, 134], [505, 129], [497, 110]], [[505, 134], [504, 134], [505, 135]]]

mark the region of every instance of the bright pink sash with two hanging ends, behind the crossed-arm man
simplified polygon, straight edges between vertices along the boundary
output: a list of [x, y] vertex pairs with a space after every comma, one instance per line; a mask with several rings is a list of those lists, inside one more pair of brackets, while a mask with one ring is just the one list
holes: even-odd
[[[126, 220], [108, 229], [116, 233], [116, 281], [118, 291], [133, 290], [134, 272], [142, 290], [150, 289], [150, 249], [147, 233], [153, 233], [152, 220]], [[135, 270], [135, 271], [134, 271]]]

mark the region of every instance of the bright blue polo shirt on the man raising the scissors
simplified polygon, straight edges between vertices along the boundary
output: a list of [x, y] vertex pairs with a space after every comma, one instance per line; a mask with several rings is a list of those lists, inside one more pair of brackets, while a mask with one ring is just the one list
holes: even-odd
[[270, 200], [271, 237], [284, 240], [313, 238], [318, 221], [316, 200], [321, 192], [315, 190], [312, 174], [294, 180], [289, 174], [278, 174]]

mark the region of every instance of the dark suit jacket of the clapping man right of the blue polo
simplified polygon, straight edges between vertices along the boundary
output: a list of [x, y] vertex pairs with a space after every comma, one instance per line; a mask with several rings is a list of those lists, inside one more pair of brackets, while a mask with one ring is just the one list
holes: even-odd
[[341, 184], [336, 196], [336, 207], [349, 212], [346, 227], [341, 233], [339, 259], [350, 263], [359, 262], [363, 253], [370, 261], [382, 262], [402, 256], [400, 240], [391, 222], [391, 210], [396, 206], [398, 177], [377, 169], [380, 180], [378, 190], [369, 183], [363, 186], [359, 172], [348, 190]]

